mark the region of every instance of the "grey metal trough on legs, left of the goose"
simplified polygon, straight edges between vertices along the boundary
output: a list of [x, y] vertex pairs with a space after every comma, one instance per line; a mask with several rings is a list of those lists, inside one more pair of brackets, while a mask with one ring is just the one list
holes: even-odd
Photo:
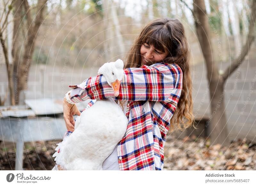
[[[76, 105], [82, 111], [88, 102]], [[60, 140], [67, 130], [61, 99], [27, 99], [25, 103], [0, 106], [0, 140], [16, 143], [15, 170], [22, 170], [25, 142]]]

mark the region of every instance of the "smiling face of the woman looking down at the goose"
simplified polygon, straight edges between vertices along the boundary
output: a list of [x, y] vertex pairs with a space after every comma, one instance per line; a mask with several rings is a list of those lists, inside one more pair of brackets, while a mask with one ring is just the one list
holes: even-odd
[[141, 66], [142, 65], [152, 65], [156, 62], [162, 61], [167, 57], [167, 52], [162, 52], [154, 48], [153, 45], [149, 45], [148, 43], [144, 43], [140, 47], [140, 55], [141, 55]]

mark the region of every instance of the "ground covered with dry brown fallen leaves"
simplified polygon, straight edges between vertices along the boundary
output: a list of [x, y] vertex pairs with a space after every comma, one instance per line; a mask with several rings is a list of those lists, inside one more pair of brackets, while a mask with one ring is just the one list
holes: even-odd
[[[51, 170], [52, 154], [60, 141], [24, 144], [24, 170]], [[0, 144], [0, 169], [15, 169], [13, 143]], [[204, 137], [168, 137], [164, 148], [164, 170], [256, 170], [256, 144], [238, 140], [229, 146], [211, 146]]]

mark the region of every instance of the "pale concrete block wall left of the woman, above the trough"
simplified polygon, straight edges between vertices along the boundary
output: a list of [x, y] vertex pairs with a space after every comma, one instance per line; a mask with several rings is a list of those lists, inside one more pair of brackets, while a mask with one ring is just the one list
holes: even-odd
[[[7, 74], [5, 66], [0, 66], [0, 96], [4, 97], [7, 90]], [[70, 90], [68, 85], [79, 84], [90, 76], [97, 75], [98, 69], [73, 69], [73, 67], [31, 66], [28, 74], [28, 90], [24, 99], [63, 98]], [[10, 103], [10, 102], [9, 102]], [[8, 102], [5, 102], [8, 105]]]

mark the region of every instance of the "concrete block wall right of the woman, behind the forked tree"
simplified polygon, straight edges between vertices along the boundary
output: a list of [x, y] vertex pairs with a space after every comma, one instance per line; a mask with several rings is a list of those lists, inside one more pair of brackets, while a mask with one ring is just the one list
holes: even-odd
[[[222, 63], [219, 68], [224, 71], [228, 65]], [[194, 112], [199, 117], [211, 115], [210, 90], [206, 76], [204, 64], [194, 66]], [[228, 78], [224, 89], [229, 138], [247, 138], [256, 142], [256, 59], [245, 60]]]

